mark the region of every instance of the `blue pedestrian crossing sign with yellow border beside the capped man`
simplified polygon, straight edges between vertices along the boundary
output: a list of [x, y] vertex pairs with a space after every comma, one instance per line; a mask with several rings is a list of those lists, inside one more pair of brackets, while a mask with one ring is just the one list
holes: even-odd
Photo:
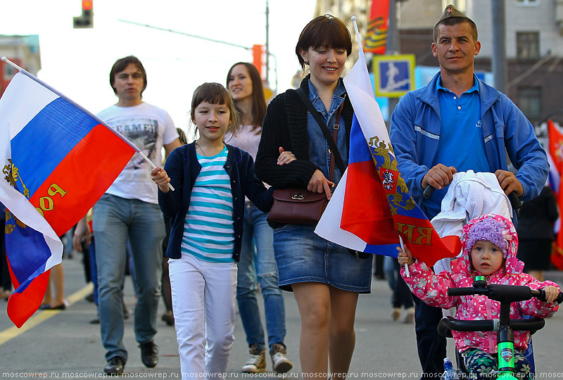
[[374, 56], [375, 94], [398, 98], [415, 89], [415, 55]]

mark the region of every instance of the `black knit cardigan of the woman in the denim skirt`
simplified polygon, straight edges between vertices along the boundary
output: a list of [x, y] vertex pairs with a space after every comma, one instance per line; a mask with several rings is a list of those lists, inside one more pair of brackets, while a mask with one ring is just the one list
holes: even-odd
[[[307, 97], [309, 97], [309, 77], [310, 75], [305, 77], [300, 86]], [[299, 98], [296, 90], [289, 89], [272, 99], [262, 124], [262, 137], [260, 138], [255, 163], [256, 175], [262, 182], [266, 182], [277, 189], [293, 186], [306, 187], [313, 172], [319, 169], [309, 160], [307, 115], [307, 107]], [[346, 126], [346, 146], [348, 149], [350, 148], [352, 116], [353, 108], [347, 96], [341, 118], [343, 118]], [[329, 130], [332, 130], [332, 127]], [[293, 152], [297, 160], [286, 165], [277, 165], [280, 146], [285, 151]], [[348, 165], [347, 155], [344, 155], [342, 160], [345, 165]]]

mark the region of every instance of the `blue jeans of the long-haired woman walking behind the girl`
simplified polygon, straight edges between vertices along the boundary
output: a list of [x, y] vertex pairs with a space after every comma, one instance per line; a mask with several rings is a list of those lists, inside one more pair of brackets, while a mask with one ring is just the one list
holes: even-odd
[[267, 216], [255, 205], [246, 202], [236, 285], [236, 300], [239, 303], [246, 342], [248, 346], [258, 344], [260, 350], [265, 347], [265, 340], [256, 298], [257, 280], [264, 297], [268, 345], [272, 348], [274, 343], [284, 343], [286, 336], [284, 297], [277, 286], [279, 277], [274, 259], [274, 232], [267, 223]]

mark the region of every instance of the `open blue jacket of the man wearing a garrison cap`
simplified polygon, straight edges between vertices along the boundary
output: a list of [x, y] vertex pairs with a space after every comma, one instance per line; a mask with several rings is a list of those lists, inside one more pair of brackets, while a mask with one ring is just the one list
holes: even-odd
[[[391, 144], [401, 177], [405, 179], [410, 194], [423, 210], [422, 178], [431, 167], [438, 164], [435, 158], [441, 129], [436, 89], [439, 78], [438, 72], [426, 87], [408, 92], [391, 116]], [[524, 189], [521, 200], [536, 198], [548, 177], [549, 164], [531, 122], [508, 96], [478, 78], [476, 80], [479, 83], [485, 153], [491, 172], [507, 170], [507, 152], [510, 162], [518, 170], [516, 177]]]

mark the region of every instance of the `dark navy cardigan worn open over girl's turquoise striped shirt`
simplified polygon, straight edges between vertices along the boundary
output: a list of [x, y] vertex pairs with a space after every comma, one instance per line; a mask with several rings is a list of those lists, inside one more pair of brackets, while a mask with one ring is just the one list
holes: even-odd
[[[274, 188], [266, 189], [264, 184], [254, 174], [254, 161], [248, 153], [236, 146], [227, 144], [229, 153], [224, 170], [231, 179], [233, 197], [233, 228], [234, 249], [233, 259], [239, 261], [241, 256], [242, 230], [244, 221], [244, 196], [252, 201], [264, 213], [270, 211], [274, 198]], [[184, 236], [184, 222], [189, 208], [191, 189], [194, 188], [196, 178], [201, 171], [201, 165], [196, 156], [196, 144], [176, 148], [166, 160], [164, 166], [170, 184], [175, 191], [163, 193], [158, 190], [158, 205], [160, 210], [170, 217], [170, 241], [166, 249], [169, 258], [182, 257], [180, 247]]]

